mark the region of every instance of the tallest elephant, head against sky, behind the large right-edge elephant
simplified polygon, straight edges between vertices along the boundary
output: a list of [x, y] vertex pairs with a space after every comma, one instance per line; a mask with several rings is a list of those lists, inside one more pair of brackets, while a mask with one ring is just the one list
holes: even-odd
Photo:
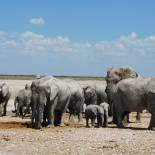
[[[119, 67], [109, 68], [106, 76], [106, 93], [109, 103], [109, 114], [112, 115], [113, 101], [115, 100], [116, 85], [123, 79], [140, 79], [142, 78], [133, 68], [131, 67]], [[136, 121], [140, 122], [140, 112], [137, 113]], [[127, 122], [129, 122], [129, 115], [127, 115]]]

